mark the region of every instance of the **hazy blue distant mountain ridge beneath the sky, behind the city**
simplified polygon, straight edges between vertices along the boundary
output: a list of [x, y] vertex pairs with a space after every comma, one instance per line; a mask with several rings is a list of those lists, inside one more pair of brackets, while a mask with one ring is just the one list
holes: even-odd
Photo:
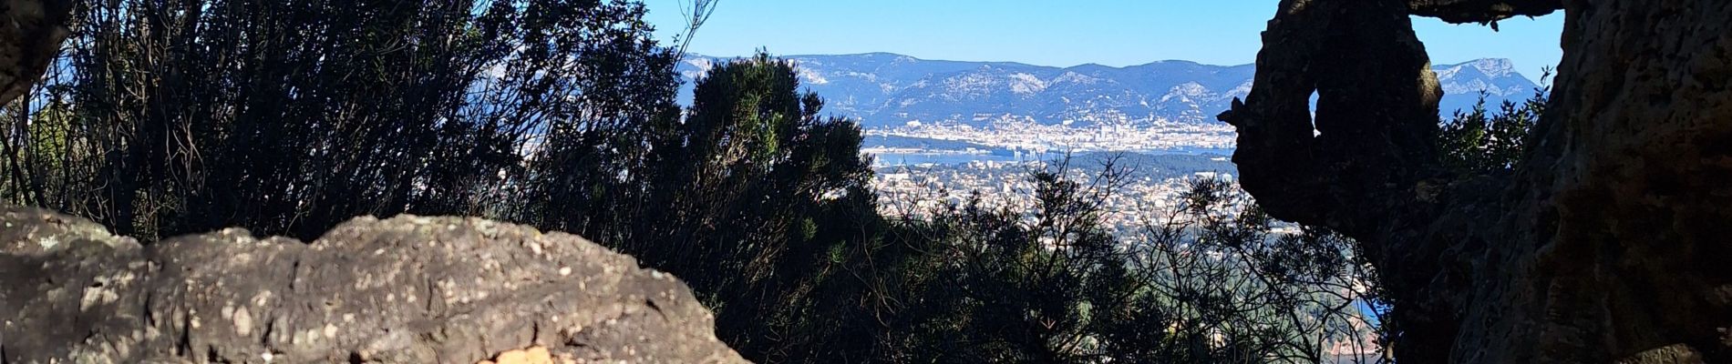
[[[695, 79], [734, 57], [688, 55], [681, 102], [691, 100]], [[899, 53], [786, 55], [800, 67], [805, 88], [826, 100], [826, 110], [863, 126], [920, 122], [1034, 121], [1041, 124], [1216, 122], [1235, 97], [1251, 93], [1256, 67], [1160, 60], [1129, 67], [1084, 64], [1048, 67], [1018, 62], [923, 60]], [[1538, 86], [1507, 59], [1436, 66], [1443, 114], [1469, 109], [1486, 93], [1488, 104], [1522, 100]]]

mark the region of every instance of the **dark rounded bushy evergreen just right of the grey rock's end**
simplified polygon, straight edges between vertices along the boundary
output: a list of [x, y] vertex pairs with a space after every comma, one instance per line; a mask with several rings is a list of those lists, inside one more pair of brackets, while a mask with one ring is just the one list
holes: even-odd
[[823, 117], [795, 64], [769, 55], [700, 79], [688, 117], [650, 133], [639, 238], [618, 243], [682, 278], [736, 347], [759, 345], [831, 274], [833, 252], [878, 229], [852, 121]]

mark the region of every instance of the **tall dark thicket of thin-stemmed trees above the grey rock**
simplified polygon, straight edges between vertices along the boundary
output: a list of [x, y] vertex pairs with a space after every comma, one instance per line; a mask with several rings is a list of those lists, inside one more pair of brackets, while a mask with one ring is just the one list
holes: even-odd
[[[634, 2], [114, 0], [73, 14], [45, 91], [19, 100], [54, 107], [12, 117], [47, 117], [28, 133], [71, 143], [54, 164], [7, 160], [17, 183], [3, 191], [145, 240], [502, 216], [488, 207], [521, 185], [507, 179], [535, 136], [580, 128], [629, 147], [617, 129], [672, 114], [677, 86]], [[7, 145], [47, 150], [24, 140]]]

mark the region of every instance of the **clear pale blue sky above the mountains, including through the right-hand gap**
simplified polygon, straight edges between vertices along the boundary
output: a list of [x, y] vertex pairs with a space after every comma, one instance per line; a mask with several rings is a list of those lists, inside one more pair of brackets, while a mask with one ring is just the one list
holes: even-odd
[[[1039, 66], [1133, 66], [1183, 59], [1256, 60], [1276, 0], [717, 0], [691, 52], [748, 55], [892, 52], [918, 59], [1011, 60]], [[644, 0], [658, 38], [686, 22], [681, 3]], [[1509, 19], [1502, 31], [1417, 17], [1432, 64], [1512, 59], [1538, 78], [1555, 66], [1562, 16]]]

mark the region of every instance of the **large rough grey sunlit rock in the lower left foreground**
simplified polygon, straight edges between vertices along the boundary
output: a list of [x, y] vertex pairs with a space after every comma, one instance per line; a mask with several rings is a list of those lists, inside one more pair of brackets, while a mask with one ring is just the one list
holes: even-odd
[[404, 216], [139, 245], [16, 207], [0, 226], [0, 362], [743, 362], [674, 276], [563, 233]]

